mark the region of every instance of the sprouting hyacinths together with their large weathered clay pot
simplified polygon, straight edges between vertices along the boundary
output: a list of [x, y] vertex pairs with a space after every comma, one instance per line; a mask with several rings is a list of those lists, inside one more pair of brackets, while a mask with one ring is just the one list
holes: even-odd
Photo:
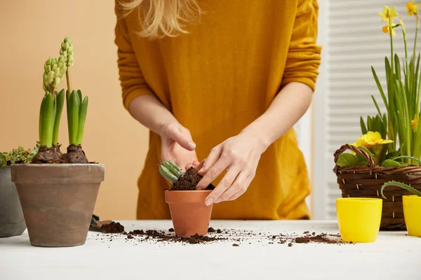
[[[70, 87], [69, 67], [72, 64], [72, 41], [66, 37], [60, 57], [50, 58], [44, 65], [46, 92], [39, 114], [39, 152], [31, 164], [11, 167], [12, 181], [18, 189], [33, 246], [84, 244], [98, 189], [104, 180], [104, 165], [87, 163], [81, 151], [88, 99], [85, 97], [82, 102], [81, 92]], [[65, 74], [66, 94], [65, 90], [56, 91]], [[76, 146], [76, 156], [73, 148], [68, 148], [65, 155], [59, 153], [58, 128], [65, 99], [69, 147]]]

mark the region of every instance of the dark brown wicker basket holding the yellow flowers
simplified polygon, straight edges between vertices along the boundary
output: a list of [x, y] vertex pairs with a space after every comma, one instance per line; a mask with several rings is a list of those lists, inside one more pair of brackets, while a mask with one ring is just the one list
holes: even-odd
[[[342, 197], [375, 197], [382, 198], [380, 190], [388, 181], [406, 183], [417, 190], [421, 190], [421, 167], [379, 167], [365, 152], [351, 145], [344, 145], [335, 152], [335, 163], [340, 154], [347, 150], [363, 155], [368, 166], [338, 167], [333, 171], [338, 176], [338, 183], [342, 190]], [[403, 218], [402, 196], [411, 195], [407, 190], [390, 186], [384, 191], [387, 200], [383, 200], [382, 223], [380, 230], [406, 230]]]

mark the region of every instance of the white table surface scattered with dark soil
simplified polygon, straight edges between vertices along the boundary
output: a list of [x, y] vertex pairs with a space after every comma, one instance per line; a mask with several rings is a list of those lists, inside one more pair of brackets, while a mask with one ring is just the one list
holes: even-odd
[[[126, 230], [168, 230], [171, 221], [120, 221]], [[421, 279], [421, 238], [380, 232], [370, 244], [269, 244], [268, 235], [338, 233], [335, 221], [211, 221], [243, 232], [209, 244], [112, 241], [89, 232], [86, 244], [39, 248], [27, 231], [0, 239], [0, 279]], [[246, 231], [261, 232], [248, 237]], [[238, 238], [238, 237], [236, 237]], [[240, 246], [232, 246], [238, 243]]]

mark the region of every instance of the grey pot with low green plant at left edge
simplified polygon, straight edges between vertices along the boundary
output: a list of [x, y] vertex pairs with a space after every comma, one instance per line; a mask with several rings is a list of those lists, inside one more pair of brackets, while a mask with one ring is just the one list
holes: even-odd
[[22, 235], [26, 229], [18, 191], [11, 179], [11, 165], [31, 162], [36, 151], [37, 148], [31, 151], [18, 147], [10, 153], [0, 153], [0, 237]]

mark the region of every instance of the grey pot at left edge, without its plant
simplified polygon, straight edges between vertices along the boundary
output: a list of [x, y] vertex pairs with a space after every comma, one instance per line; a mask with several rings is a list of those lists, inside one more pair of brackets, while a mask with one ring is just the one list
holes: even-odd
[[22, 235], [26, 229], [11, 167], [0, 168], [0, 237]]

